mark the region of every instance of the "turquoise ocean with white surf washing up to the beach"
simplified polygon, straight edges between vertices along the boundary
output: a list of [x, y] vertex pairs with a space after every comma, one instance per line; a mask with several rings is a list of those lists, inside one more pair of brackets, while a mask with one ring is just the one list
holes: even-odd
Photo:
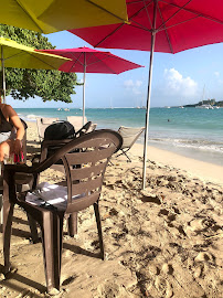
[[[57, 108], [17, 108], [21, 118], [82, 116], [82, 110]], [[146, 110], [139, 108], [88, 108], [88, 120], [99, 128], [117, 130], [120, 126], [145, 126]], [[138, 140], [144, 142], [144, 136]], [[223, 166], [223, 108], [151, 108], [149, 145], [185, 157]], [[148, 150], [149, 158], [149, 150]]]

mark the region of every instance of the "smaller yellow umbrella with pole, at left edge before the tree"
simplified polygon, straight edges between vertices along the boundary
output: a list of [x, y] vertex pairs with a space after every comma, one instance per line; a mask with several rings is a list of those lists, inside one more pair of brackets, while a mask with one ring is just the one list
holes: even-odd
[[19, 44], [15, 41], [0, 38], [0, 66], [2, 68], [3, 98], [6, 102], [6, 76], [4, 67], [34, 68], [34, 70], [59, 70], [65, 63], [66, 57], [35, 52], [33, 47]]

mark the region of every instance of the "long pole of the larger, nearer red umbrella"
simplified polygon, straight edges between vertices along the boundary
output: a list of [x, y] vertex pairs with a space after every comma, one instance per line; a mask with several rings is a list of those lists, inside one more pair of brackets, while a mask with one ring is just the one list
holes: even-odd
[[[157, 1], [155, 1], [153, 9], [153, 29], [156, 28], [157, 19]], [[152, 63], [153, 63], [153, 52], [155, 52], [155, 40], [156, 31], [151, 33], [151, 50], [150, 50], [150, 63], [149, 63], [149, 79], [148, 79], [148, 92], [147, 92], [147, 113], [146, 113], [146, 130], [144, 139], [144, 167], [142, 167], [142, 190], [146, 188], [146, 169], [147, 169], [147, 145], [149, 136], [149, 109], [150, 109], [150, 97], [151, 97], [151, 78], [152, 78]]]

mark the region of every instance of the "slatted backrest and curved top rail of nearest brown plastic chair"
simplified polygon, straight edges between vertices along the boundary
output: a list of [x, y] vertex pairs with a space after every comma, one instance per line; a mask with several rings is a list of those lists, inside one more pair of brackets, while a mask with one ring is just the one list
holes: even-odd
[[[67, 180], [67, 212], [78, 211], [86, 207], [86, 202], [93, 204], [98, 200], [108, 159], [121, 145], [123, 138], [116, 131], [93, 131], [64, 145], [41, 161], [35, 172], [40, 173], [62, 159]], [[81, 199], [73, 200], [73, 196]]]

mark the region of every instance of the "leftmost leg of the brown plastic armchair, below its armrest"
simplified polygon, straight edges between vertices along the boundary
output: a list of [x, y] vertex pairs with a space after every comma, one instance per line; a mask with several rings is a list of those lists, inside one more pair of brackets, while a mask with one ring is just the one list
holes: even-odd
[[10, 242], [14, 204], [9, 200], [3, 202], [3, 257], [4, 274], [10, 272]]

